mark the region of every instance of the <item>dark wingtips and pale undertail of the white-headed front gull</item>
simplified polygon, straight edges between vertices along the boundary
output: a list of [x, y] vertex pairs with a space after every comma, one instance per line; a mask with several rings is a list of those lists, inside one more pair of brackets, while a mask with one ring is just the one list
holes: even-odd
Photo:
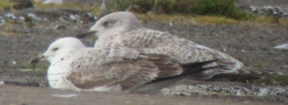
[[[207, 64], [214, 63], [217, 60], [211, 60], [211, 61], [204, 61], [200, 63], [189, 63], [189, 64], [183, 64], [178, 66], [183, 66], [182, 73], [174, 76], [163, 76], [149, 82], [146, 84], [143, 84], [141, 87], [137, 87], [134, 90], [131, 90], [131, 93], [144, 93], [144, 94], [158, 94], [160, 90], [167, 87], [170, 84], [176, 83], [178, 80], [184, 79], [184, 78], [192, 78], [193, 79], [205, 79], [210, 78], [210, 75], [202, 74], [202, 71], [205, 70], [211, 70], [214, 68], [220, 68], [222, 66], [215, 66], [215, 67], [206, 67]], [[184, 69], [185, 67], [185, 69]], [[162, 69], [164, 71], [167, 71], [165, 69]], [[160, 72], [165, 73], [165, 72]], [[169, 73], [168, 73], [169, 74]]]

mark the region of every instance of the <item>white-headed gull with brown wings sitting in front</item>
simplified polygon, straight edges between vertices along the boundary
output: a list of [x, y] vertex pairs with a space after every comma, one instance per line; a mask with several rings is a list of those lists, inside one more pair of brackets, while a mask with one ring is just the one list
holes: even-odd
[[166, 55], [140, 50], [88, 48], [71, 37], [56, 40], [31, 63], [45, 59], [51, 64], [47, 72], [51, 88], [150, 94], [187, 75], [202, 75], [200, 72], [211, 69], [202, 67], [215, 62], [179, 64]]

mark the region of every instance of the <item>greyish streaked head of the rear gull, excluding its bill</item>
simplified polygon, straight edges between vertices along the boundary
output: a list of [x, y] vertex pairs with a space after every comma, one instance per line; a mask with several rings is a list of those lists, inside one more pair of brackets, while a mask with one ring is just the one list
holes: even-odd
[[126, 33], [141, 28], [141, 23], [130, 12], [114, 12], [108, 14], [90, 28], [90, 32], [95, 32], [97, 37], [107, 34]]

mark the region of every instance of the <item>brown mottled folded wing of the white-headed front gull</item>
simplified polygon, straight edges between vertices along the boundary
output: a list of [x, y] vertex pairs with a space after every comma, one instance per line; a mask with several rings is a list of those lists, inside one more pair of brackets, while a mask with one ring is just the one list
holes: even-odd
[[80, 89], [119, 84], [121, 90], [128, 90], [152, 81], [159, 72], [147, 56], [134, 50], [106, 48], [80, 53], [82, 56], [71, 64], [74, 70], [67, 77]]

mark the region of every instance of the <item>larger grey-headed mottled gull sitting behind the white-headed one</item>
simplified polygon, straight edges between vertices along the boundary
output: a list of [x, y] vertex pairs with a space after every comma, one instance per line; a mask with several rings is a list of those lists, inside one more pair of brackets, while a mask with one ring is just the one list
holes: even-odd
[[[208, 67], [225, 65], [222, 68], [203, 71], [199, 79], [209, 79], [215, 75], [227, 74], [229, 77], [257, 77], [263, 75], [282, 75], [270, 70], [244, 67], [243, 63], [225, 53], [198, 45], [187, 39], [167, 32], [156, 31], [142, 27], [137, 18], [130, 12], [115, 12], [102, 17], [90, 28], [98, 40], [95, 47], [127, 47], [141, 49], [149, 53], [171, 56], [180, 63], [195, 63], [217, 59]], [[232, 74], [232, 75], [230, 75]]]

